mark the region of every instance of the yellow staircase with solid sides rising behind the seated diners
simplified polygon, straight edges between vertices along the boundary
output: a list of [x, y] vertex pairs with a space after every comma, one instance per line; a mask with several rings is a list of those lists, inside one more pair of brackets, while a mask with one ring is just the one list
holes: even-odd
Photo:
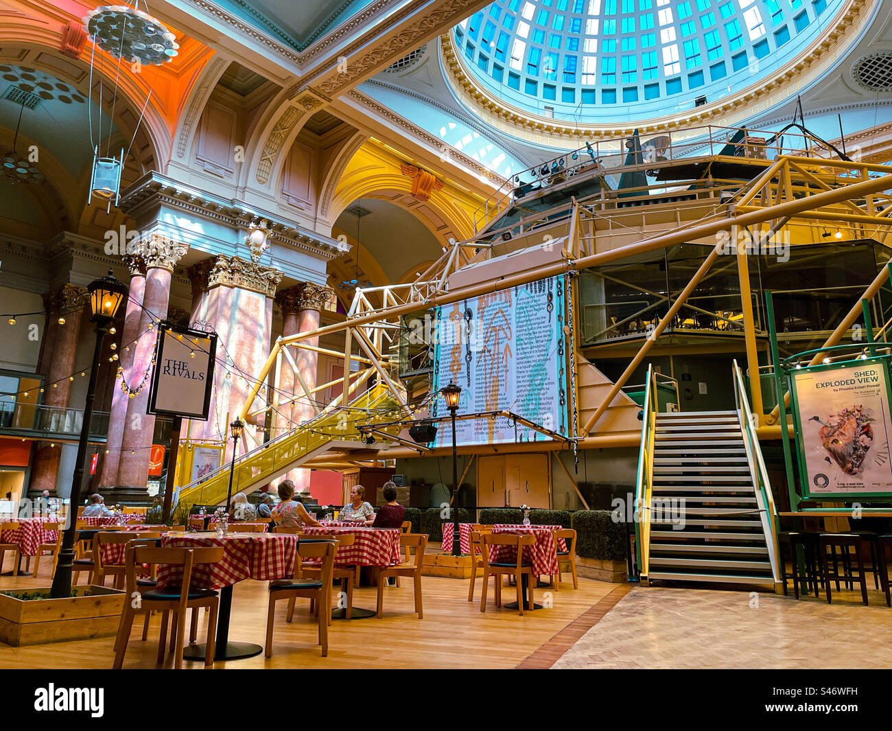
[[[279, 478], [289, 469], [300, 467], [331, 448], [333, 442], [355, 442], [359, 428], [386, 424], [397, 419], [400, 404], [387, 386], [377, 383], [350, 403], [349, 410], [323, 411], [302, 424], [235, 460], [232, 494], [250, 493], [270, 480]], [[382, 428], [386, 434], [396, 435], [400, 426]], [[179, 488], [182, 504], [216, 505], [225, 503], [229, 487], [227, 462], [201, 480]]]

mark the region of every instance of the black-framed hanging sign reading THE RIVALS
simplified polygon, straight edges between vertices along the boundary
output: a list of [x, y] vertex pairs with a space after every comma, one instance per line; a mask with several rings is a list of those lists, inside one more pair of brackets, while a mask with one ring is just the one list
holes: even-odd
[[162, 322], [149, 395], [150, 414], [206, 421], [217, 353], [217, 333]]

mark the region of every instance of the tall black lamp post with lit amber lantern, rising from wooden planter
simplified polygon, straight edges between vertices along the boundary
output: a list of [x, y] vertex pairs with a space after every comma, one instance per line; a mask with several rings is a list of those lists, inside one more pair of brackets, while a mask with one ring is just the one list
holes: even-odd
[[87, 384], [87, 400], [84, 403], [84, 419], [80, 425], [80, 439], [78, 440], [78, 456], [74, 461], [74, 475], [71, 478], [71, 494], [68, 515], [68, 527], [62, 537], [62, 548], [59, 551], [59, 561], [53, 579], [53, 589], [50, 596], [54, 599], [62, 599], [71, 594], [71, 568], [74, 563], [74, 539], [77, 533], [78, 503], [80, 503], [80, 488], [84, 481], [84, 461], [87, 460], [87, 439], [90, 435], [90, 420], [93, 417], [93, 402], [96, 396], [96, 377], [99, 373], [99, 358], [103, 351], [103, 339], [109, 331], [109, 326], [114, 321], [120, 303], [127, 296], [128, 288], [123, 282], [114, 278], [112, 271], [101, 279], [95, 279], [87, 285], [90, 295], [90, 309], [93, 315], [91, 322], [96, 325], [96, 345], [93, 351], [93, 362], [90, 365], [90, 379]]

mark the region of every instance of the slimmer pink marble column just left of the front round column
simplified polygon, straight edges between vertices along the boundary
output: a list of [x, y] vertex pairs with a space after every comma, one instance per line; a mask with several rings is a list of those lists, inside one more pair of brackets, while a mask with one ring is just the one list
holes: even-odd
[[[128, 254], [124, 262], [130, 270], [130, 284], [127, 311], [124, 314], [124, 327], [120, 338], [111, 342], [118, 343], [120, 353], [120, 371], [111, 395], [111, 415], [109, 417], [108, 441], [105, 444], [107, 454], [103, 454], [103, 469], [99, 479], [102, 488], [118, 485], [118, 469], [120, 467], [120, 449], [124, 439], [124, 427], [127, 423], [129, 399], [121, 388], [123, 382], [133, 383], [136, 373], [133, 368], [136, 355], [136, 336], [140, 334], [139, 325], [143, 315], [143, 297], [145, 296], [145, 262], [142, 257]], [[127, 349], [129, 348], [129, 350]], [[104, 490], [103, 490], [104, 492]]]

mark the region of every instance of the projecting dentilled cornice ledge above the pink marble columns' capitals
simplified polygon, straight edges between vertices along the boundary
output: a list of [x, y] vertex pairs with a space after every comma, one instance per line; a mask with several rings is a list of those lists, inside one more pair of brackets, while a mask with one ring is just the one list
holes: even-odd
[[252, 222], [268, 221], [268, 240], [311, 253], [331, 261], [350, 251], [351, 246], [278, 218], [244, 203], [223, 200], [209, 193], [187, 187], [161, 173], [151, 172], [137, 180], [121, 195], [121, 211], [130, 213], [148, 204], [160, 204], [196, 218], [213, 220], [235, 230], [250, 228]]

